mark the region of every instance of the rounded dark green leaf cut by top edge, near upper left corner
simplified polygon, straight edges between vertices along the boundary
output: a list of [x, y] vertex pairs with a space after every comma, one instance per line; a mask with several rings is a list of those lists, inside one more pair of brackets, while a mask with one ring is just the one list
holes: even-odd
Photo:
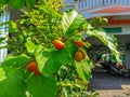
[[25, 5], [25, 0], [10, 0], [10, 4], [14, 8], [14, 9], [22, 9]]

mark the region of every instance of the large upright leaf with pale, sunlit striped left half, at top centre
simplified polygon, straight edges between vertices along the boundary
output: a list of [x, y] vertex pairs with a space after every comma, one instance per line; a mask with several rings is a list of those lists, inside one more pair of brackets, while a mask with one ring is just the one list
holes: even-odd
[[73, 34], [77, 29], [82, 28], [87, 24], [86, 18], [76, 11], [64, 12], [62, 26], [66, 36]]

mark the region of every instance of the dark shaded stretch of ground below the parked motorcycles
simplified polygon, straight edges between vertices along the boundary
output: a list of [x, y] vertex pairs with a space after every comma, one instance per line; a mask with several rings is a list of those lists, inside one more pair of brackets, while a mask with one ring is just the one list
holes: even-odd
[[96, 65], [92, 70], [92, 79], [88, 91], [130, 89], [130, 78], [110, 75], [102, 66]]

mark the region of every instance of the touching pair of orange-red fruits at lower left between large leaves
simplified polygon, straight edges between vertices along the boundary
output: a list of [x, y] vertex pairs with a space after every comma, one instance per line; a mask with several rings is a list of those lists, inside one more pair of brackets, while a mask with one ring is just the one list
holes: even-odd
[[30, 72], [34, 72], [36, 75], [41, 75], [41, 73], [38, 71], [36, 61], [29, 63], [27, 68]]

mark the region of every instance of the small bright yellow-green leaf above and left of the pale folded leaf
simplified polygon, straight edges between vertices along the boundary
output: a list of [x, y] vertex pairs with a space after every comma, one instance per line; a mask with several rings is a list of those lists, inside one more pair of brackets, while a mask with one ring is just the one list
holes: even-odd
[[31, 42], [30, 40], [26, 41], [25, 46], [27, 48], [27, 52], [30, 54], [32, 54], [35, 52], [35, 50], [37, 48], [37, 45], [34, 42]]

